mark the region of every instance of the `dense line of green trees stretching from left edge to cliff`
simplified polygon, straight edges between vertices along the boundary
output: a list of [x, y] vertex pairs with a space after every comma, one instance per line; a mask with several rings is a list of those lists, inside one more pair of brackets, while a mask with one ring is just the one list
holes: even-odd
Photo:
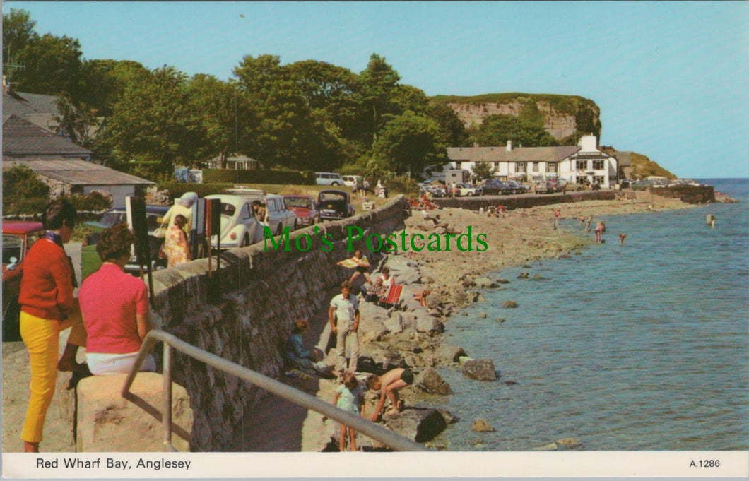
[[83, 58], [78, 40], [37, 34], [25, 10], [11, 9], [3, 21], [3, 69], [13, 88], [57, 95], [66, 136], [109, 166], [148, 178], [232, 154], [266, 168], [380, 175], [443, 163], [450, 145], [554, 145], [530, 107], [468, 132], [452, 109], [402, 84], [377, 54], [360, 73], [246, 55], [222, 80]]

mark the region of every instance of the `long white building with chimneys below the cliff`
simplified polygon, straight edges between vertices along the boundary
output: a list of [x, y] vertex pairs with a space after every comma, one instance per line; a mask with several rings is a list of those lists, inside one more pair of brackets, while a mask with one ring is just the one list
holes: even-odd
[[578, 145], [517, 147], [508, 140], [504, 147], [449, 147], [450, 169], [473, 172], [478, 163], [490, 163], [494, 177], [506, 180], [564, 178], [580, 184], [616, 183], [616, 159], [598, 150], [595, 136], [583, 136]]

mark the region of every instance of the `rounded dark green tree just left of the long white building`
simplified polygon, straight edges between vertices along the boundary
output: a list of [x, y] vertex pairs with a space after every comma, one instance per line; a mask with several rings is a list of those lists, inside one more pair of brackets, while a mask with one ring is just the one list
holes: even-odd
[[407, 111], [389, 121], [372, 147], [375, 157], [389, 161], [392, 172], [421, 172], [426, 166], [447, 161], [437, 123]]

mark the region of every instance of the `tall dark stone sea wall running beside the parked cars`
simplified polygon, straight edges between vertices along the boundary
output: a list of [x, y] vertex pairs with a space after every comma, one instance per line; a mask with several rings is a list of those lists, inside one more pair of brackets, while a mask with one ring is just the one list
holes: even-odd
[[[351, 272], [336, 265], [348, 258], [348, 227], [366, 234], [404, 228], [405, 201], [398, 196], [377, 211], [308, 227], [289, 236], [291, 250], [268, 243], [223, 252], [153, 274], [152, 314], [156, 324], [180, 339], [271, 378], [282, 372], [282, 352], [291, 323], [324, 307]], [[331, 252], [321, 242], [329, 235]], [[305, 238], [309, 236], [309, 238]], [[297, 240], [302, 252], [297, 249]], [[360, 248], [362, 243], [357, 243]], [[379, 260], [368, 255], [372, 264]], [[175, 353], [173, 380], [189, 394], [193, 412], [192, 451], [228, 450], [242, 435], [243, 415], [262, 390]]]

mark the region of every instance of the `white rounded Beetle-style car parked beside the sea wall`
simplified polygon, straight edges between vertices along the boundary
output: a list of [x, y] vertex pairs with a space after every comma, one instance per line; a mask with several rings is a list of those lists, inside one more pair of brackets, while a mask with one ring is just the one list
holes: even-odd
[[[221, 248], [249, 246], [263, 239], [261, 228], [252, 212], [252, 198], [235, 194], [212, 194], [206, 199], [221, 201]], [[218, 238], [213, 235], [210, 244], [216, 247]]]

